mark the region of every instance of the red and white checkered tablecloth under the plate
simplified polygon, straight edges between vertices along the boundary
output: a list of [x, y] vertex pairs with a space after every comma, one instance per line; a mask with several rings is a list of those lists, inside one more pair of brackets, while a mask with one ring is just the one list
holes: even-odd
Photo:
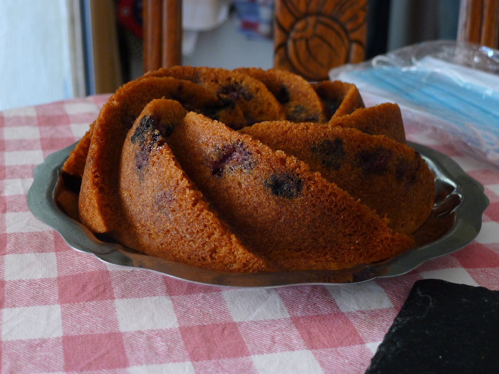
[[422, 278], [499, 289], [499, 173], [408, 123], [491, 204], [477, 240], [411, 273], [358, 285], [231, 289], [107, 265], [69, 249], [26, 206], [32, 171], [79, 139], [107, 99], [0, 113], [3, 373], [361, 373]]

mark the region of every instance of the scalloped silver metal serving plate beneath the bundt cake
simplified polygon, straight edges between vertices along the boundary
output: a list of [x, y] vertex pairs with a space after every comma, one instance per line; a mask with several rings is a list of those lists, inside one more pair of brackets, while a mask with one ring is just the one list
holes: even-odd
[[[76, 144], [76, 143], [75, 143]], [[158, 271], [192, 282], [235, 287], [279, 287], [298, 284], [360, 283], [375, 278], [405, 274], [423, 262], [457, 251], [477, 237], [482, 213], [489, 205], [484, 187], [458, 164], [440, 152], [408, 142], [435, 175], [435, 205], [432, 214], [414, 234], [416, 248], [383, 262], [358, 265], [348, 270], [303, 270], [272, 273], [228, 273], [202, 269], [141, 254], [119, 243], [97, 238], [71, 218], [77, 211], [77, 194], [65, 187], [62, 165], [75, 144], [49, 155], [33, 172], [27, 195], [31, 212], [52, 227], [73, 249], [93, 253], [104, 262]], [[61, 197], [64, 197], [61, 198]], [[67, 201], [71, 201], [68, 206]], [[59, 201], [65, 201], [64, 207]], [[71, 205], [71, 204], [69, 204]], [[68, 212], [68, 213], [66, 213]], [[100, 240], [99, 240], [100, 239]]]

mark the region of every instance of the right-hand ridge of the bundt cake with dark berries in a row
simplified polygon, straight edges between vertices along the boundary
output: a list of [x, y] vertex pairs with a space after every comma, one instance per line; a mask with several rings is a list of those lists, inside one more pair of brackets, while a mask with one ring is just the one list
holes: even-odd
[[433, 209], [435, 186], [428, 166], [411, 147], [385, 136], [288, 121], [262, 122], [240, 132], [305, 162], [379, 216], [386, 216], [395, 231], [412, 234]]

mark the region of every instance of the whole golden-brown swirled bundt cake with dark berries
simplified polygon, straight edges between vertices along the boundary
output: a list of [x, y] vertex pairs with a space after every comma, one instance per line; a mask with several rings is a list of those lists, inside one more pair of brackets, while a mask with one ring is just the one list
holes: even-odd
[[160, 69], [119, 88], [63, 166], [79, 219], [207, 269], [345, 269], [414, 246], [433, 176], [396, 104], [279, 70]]

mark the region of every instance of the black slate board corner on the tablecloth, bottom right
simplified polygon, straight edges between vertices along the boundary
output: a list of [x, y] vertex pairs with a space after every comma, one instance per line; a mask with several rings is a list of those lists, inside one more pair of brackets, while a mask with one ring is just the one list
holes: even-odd
[[499, 373], [499, 291], [414, 283], [366, 374]]

